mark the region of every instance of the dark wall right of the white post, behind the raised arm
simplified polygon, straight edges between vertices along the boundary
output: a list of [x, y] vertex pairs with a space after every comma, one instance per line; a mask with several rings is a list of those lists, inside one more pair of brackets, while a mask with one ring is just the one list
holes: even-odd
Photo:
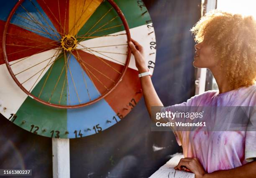
[[[156, 33], [156, 66], [152, 77], [165, 106], [195, 94], [193, 37], [189, 29], [200, 18], [201, 0], [144, 0]], [[135, 39], [136, 40], [136, 39]], [[162, 147], [161, 150], [154, 150]], [[104, 132], [70, 140], [72, 178], [146, 178], [182, 152], [173, 133], [151, 132], [144, 100]]]

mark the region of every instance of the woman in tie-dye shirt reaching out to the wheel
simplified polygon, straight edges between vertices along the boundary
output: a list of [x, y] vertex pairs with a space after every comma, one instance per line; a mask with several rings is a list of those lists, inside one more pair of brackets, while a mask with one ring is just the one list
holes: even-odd
[[[203, 16], [191, 31], [197, 42], [193, 65], [210, 69], [219, 90], [204, 92], [175, 106], [256, 106], [256, 21], [251, 16], [214, 10]], [[134, 40], [129, 45], [138, 72], [147, 72], [143, 47]], [[151, 77], [140, 79], [151, 114], [151, 106], [163, 104]], [[169, 106], [161, 111], [171, 109]], [[256, 121], [256, 114], [250, 120]], [[256, 131], [174, 131], [174, 134], [185, 157], [175, 169], [187, 168], [196, 178], [256, 178]]]

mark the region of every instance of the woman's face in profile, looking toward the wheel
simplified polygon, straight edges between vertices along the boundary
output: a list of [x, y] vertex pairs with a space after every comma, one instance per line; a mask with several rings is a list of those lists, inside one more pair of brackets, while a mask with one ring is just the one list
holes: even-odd
[[211, 45], [204, 42], [195, 45], [194, 67], [212, 69], [216, 66], [216, 61], [214, 60], [214, 54], [211, 48]]

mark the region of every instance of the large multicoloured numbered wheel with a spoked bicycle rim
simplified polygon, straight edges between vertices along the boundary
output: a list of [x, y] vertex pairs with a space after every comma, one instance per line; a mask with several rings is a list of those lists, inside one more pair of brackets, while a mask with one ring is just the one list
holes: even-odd
[[142, 1], [10, 0], [0, 12], [0, 113], [11, 122], [83, 137], [119, 122], [141, 98], [127, 41], [145, 47], [153, 73], [156, 40]]

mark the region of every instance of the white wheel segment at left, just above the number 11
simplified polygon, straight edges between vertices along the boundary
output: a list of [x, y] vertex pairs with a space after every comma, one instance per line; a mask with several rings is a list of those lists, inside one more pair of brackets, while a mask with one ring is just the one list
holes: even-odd
[[[14, 74], [18, 74], [19, 72], [24, 71], [25, 69], [28, 69], [29, 67], [33, 66], [30, 69], [16, 75], [18, 81], [20, 82], [26, 81], [30, 78], [23, 84], [23, 86], [28, 91], [32, 91], [36, 84], [40, 81], [40, 79], [51, 67], [51, 65], [53, 64], [52, 62], [55, 60], [55, 58], [57, 58], [58, 53], [58, 49], [51, 49], [48, 51], [35, 54], [33, 56], [11, 61], [10, 65]], [[34, 66], [35, 64], [38, 65]], [[36, 74], [38, 71], [40, 72]], [[2, 84], [4, 84], [4, 87], [0, 87], [0, 113], [3, 114], [6, 118], [9, 118], [10, 114], [15, 114], [18, 111], [18, 109], [23, 104], [28, 95], [24, 93], [15, 83], [5, 64], [0, 65], [0, 81], [2, 81]]]

